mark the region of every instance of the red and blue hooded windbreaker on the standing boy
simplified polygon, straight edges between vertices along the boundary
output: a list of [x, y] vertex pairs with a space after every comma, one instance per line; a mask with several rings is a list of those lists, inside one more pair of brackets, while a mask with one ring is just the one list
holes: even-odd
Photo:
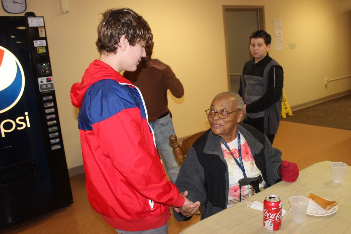
[[88, 199], [113, 228], [163, 226], [184, 198], [167, 181], [138, 88], [100, 60], [71, 88]]

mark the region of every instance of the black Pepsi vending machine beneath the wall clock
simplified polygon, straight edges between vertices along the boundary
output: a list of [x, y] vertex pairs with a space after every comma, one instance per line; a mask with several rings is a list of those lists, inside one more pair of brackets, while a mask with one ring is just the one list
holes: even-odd
[[43, 17], [0, 16], [0, 229], [73, 203]]

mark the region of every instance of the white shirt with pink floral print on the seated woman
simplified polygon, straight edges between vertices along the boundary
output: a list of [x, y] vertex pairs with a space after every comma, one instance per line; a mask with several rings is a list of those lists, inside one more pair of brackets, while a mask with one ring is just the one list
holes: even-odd
[[[239, 152], [238, 152], [238, 137], [231, 142], [227, 142], [231, 152], [239, 161]], [[241, 158], [243, 160], [245, 173], [247, 177], [256, 177], [258, 175], [262, 175], [261, 171], [256, 167], [255, 161], [251, 154], [251, 149], [247, 144], [244, 136], [240, 134], [240, 145], [241, 145]], [[239, 198], [239, 183], [238, 181], [244, 178], [243, 172], [240, 167], [237, 165], [235, 160], [233, 159], [232, 154], [228, 151], [228, 149], [221, 144], [224, 158], [227, 162], [228, 173], [229, 173], [229, 194], [228, 201]], [[263, 188], [266, 185], [266, 182], [263, 181], [259, 184], [260, 188]], [[248, 186], [241, 187], [241, 196], [248, 195], [250, 188]]]

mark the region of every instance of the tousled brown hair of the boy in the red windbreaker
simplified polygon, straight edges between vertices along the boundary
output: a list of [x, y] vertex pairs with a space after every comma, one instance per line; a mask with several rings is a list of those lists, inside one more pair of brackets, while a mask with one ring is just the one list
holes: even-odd
[[100, 54], [117, 53], [117, 44], [122, 35], [126, 35], [131, 46], [144, 41], [148, 46], [153, 39], [150, 26], [132, 9], [108, 9], [102, 13], [96, 41], [98, 52]]

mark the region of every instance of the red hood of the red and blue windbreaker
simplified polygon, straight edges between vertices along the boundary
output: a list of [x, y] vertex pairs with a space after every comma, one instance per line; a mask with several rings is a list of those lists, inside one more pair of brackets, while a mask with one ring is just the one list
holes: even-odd
[[71, 87], [71, 102], [74, 107], [80, 108], [85, 92], [95, 82], [99, 80], [111, 79], [119, 83], [132, 83], [124, 78], [119, 72], [115, 71], [111, 66], [100, 60], [94, 60], [85, 70], [82, 81], [74, 83]]

